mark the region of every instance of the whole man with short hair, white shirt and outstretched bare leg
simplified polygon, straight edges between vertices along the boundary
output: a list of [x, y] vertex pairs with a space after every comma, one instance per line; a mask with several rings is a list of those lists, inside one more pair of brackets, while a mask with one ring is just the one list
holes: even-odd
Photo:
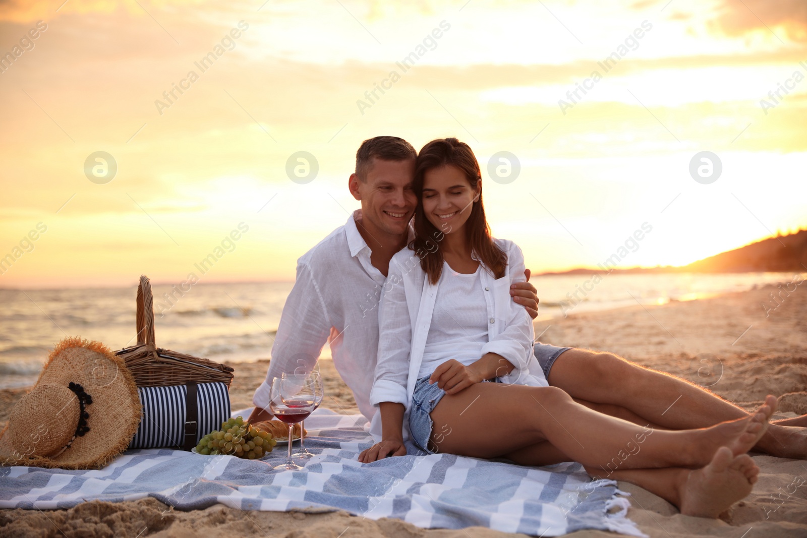
[[[253, 397], [250, 422], [271, 418], [265, 408], [272, 378], [300, 367], [312, 369], [330, 340], [333, 365], [353, 391], [359, 411], [370, 420], [370, 433], [380, 439], [380, 419], [370, 405], [378, 299], [392, 256], [411, 240], [409, 221], [417, 205], [411, 186], [415, 160], [415, 149], [394, 136], [365, 140], [358, 149], [348, 186], [362, 209], [299, 258], [297, 280], [283, 307], [266, 381]], [[528, 282], [511, 290], [513, 301], [533, 319], [535, 292]], [[612, 353], [538, 343], [535, 356], [551, 386], [596, 411], [642, 426], [709, 427], [748, 416], [699, 386]], [[665, 413], [672, 402], [675, 413]], [[771, 424], [755, 449], [778, 457], [805, 457], [805, 425], [807, 415]]]

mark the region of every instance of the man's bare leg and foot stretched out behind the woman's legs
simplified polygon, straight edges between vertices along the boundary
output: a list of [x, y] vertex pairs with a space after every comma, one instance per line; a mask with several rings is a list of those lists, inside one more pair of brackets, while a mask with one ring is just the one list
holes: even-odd
[[[549, 369], [546, 378], [550, 386], [565, 390], [584, 405], [584, 401], [600, 404], [588, 406], [597, 411], [632, 422], [635, 420], [629, 415], [638, 415], [646, 423], [676, 430], [709, 427], [748, 415], [700, 386], [613, 353], [570, 348], [548, 363], [547, 357], [557, 348], [548, 354], [547, 350], [553, 350], [542, 350], [540, 345], [536, 346], [536, 357], [545, 372]], [[601, 404], [617, 408], [609, 411]], [[807, 456], [807, 430], [771, 424], [755, 449], [777, 457], [803, 458]]]

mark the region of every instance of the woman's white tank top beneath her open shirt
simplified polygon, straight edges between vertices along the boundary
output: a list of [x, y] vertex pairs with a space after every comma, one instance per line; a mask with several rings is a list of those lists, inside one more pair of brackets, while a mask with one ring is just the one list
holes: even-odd
[[437, 286], [432, 324], [423, 350], [418, 379], [448, 359], [470, 365], [487, 344], [487, 311], [480, 273], [458, 273], [445, 261]]

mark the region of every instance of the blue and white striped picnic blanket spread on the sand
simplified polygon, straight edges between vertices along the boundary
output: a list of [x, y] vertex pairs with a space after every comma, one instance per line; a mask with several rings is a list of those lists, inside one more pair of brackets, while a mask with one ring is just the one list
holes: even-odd
[[316, 457], [299, 472], [271, 469], [286, 457], [280, 445], [260, 461], [132, 449], [100, 470], [0, 467], [0, 508], [153, 497], [179, 510], [220, 503], [241, 510], [345, 510], [422, 528], [482, 526], [534, 536], [591, 528], [644, 536], [627, 519], [629, 503], [616, 482], [590, 482], [579, 464], [522, 467], [427, 455], [409, 445], [408, 456], [362, 465], [358, 453], [372, 444], [365, 426], [362, 415], [317, 410], [306, 421], [306, 445]]

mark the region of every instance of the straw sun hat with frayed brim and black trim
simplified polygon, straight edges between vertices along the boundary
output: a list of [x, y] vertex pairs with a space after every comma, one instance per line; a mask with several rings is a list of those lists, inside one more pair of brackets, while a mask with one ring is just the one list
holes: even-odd
[[0, 465], [100, 469], [140, 423], [132, 373], [100, 342], [65, 338], [0, 432]]

